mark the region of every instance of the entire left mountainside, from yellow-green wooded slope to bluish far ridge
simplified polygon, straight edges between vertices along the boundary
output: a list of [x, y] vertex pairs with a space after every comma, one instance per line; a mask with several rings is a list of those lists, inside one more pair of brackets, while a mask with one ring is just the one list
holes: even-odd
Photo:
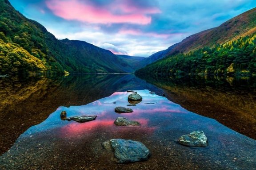
[[109, 50], [87, 42], [58, 40], [40, 23], [0, 0], [0, 74], [124, 73], [134, 70]]

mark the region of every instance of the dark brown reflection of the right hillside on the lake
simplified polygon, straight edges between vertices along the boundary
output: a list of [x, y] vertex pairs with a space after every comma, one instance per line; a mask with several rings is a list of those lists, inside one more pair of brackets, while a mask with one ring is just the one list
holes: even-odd
[[189, 111], [218, 120], [256, 139], [256, 80], [253, 77], [141, 77], [164, 89]]

